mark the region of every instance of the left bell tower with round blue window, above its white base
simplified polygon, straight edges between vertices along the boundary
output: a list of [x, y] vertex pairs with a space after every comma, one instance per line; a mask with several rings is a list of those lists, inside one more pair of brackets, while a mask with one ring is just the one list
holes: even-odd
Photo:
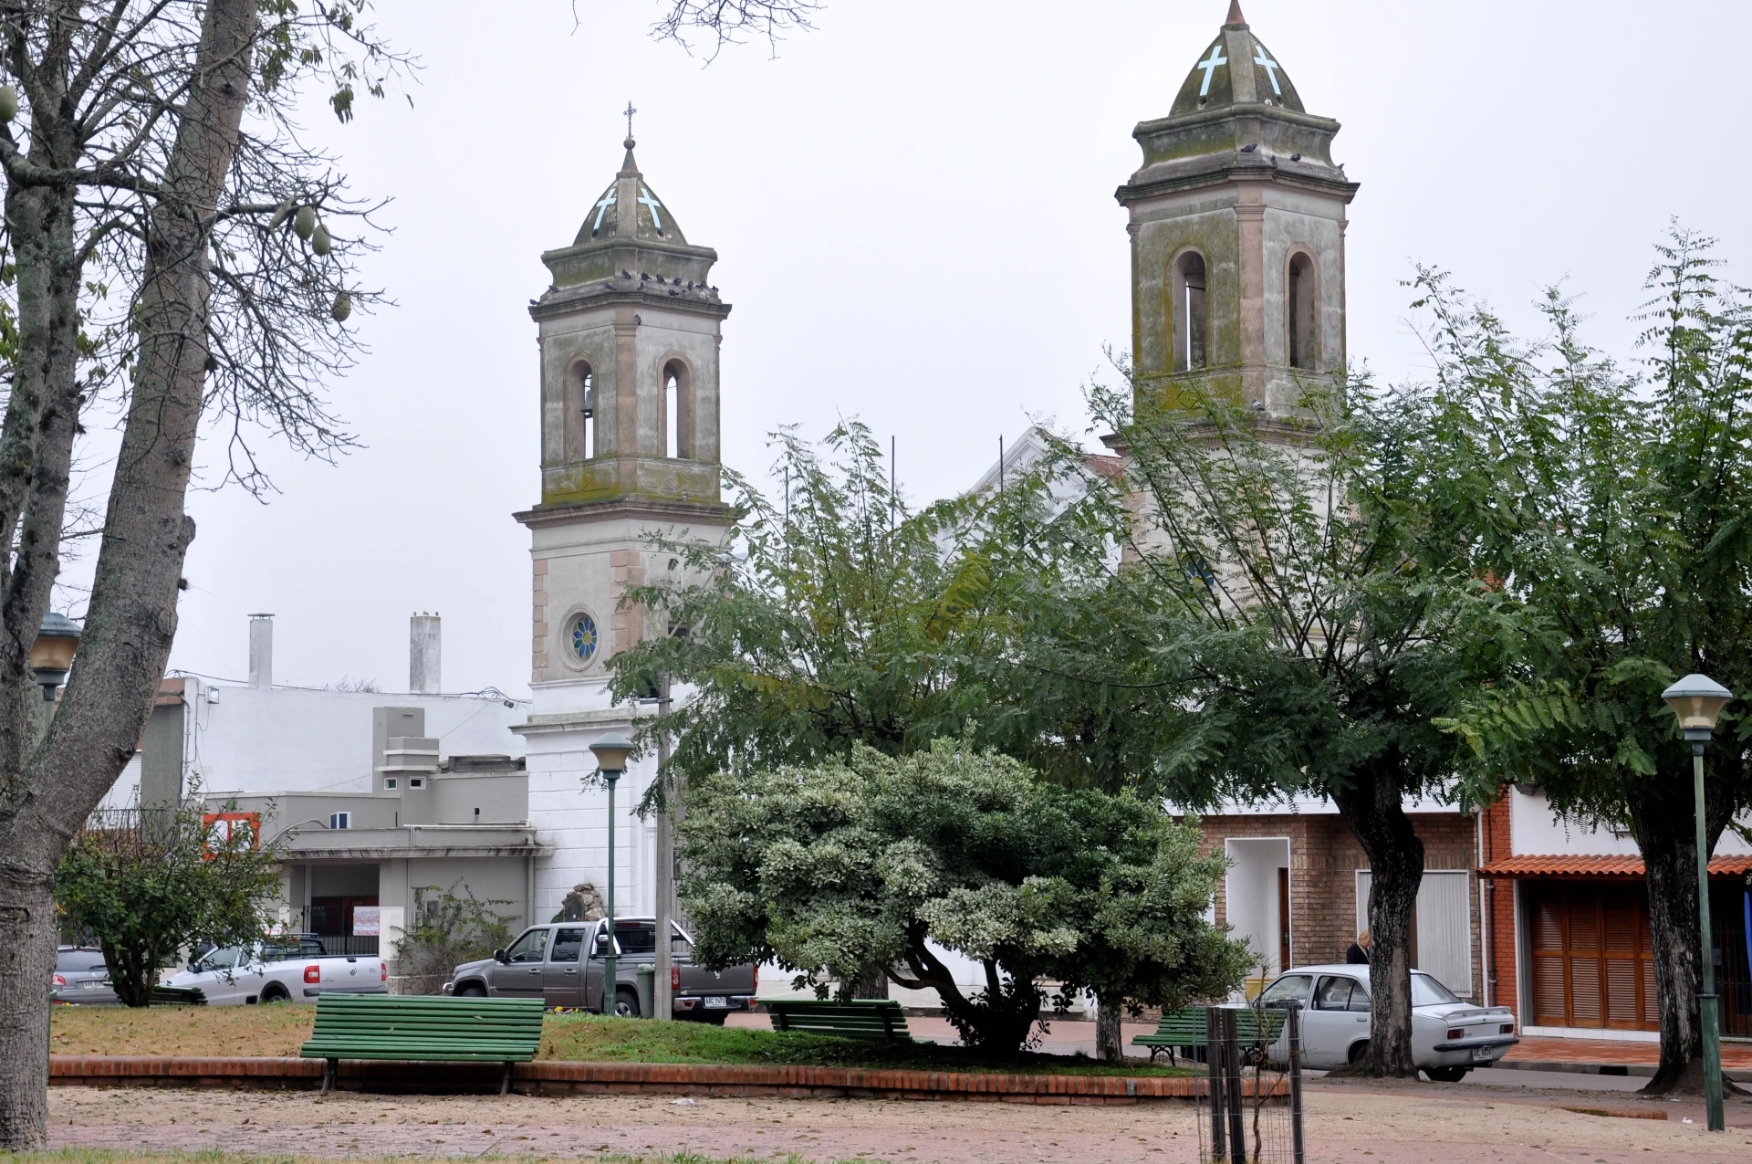
[[[710, 286], [718, 252], [687, 240], [625, 140], [620, 172], [571, 245], [541, 261], [529, 307], [541, 351], [541, 501], [517, 521], [534, 556], [531, 682], [564, 706], [606, 706], [603, 663], [645, 633], [618, 610], [645, 580], [655, 529], [715, 536], [718, 344], [729, 303]], [[552, 691], [585, 687], [573, 696]]]

